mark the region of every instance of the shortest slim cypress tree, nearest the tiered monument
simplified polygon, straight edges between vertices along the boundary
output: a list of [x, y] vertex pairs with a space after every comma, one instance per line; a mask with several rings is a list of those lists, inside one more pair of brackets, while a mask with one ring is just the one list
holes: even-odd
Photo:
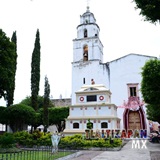
[[50, 95], [50, 85], [48, 82], [47, 76], [45, 77], [45, 85], [44, 85], [44, 105], [43, 105], [43, 125], [44, 125], [44, 132], [47, 132], [47, 128], [49, 125], [48, 119], [48, 107], [49, 107], [49, 95]]

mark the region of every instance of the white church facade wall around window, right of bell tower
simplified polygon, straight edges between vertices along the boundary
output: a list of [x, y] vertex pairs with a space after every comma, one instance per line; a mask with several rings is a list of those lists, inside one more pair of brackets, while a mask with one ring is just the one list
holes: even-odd
[[[110, 90], [112, 92], [112, 102], [117, 106], [122, 106], [124, 100], [128, 100], [128, 83], [138, 83], [139, 97], [141, 87], [141, 68], [145, 62], [151, 58], [137, 54], [130, 54], [110, 62]], [[117, 115], [121, 118], [121, 128], [123, 128], [123, 108], [117, 109]]]

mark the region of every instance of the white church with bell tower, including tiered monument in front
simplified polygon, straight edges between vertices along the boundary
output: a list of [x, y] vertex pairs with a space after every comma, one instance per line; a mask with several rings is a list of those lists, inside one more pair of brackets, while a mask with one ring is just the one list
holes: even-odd
[[84, 133], [90, 119], [93, 130], [146, 130], [141, 87], [141, 68], [157, 57], [128, 54], [103, 61], [100, 27], [89, 7], [77, 26], [73, 40], [72, 98], [64, 134]]

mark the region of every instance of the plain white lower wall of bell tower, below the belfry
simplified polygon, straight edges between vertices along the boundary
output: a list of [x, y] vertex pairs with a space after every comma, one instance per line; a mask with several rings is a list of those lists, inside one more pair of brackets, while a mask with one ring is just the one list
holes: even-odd
[[108, 69], [104, 65], [100, 65], [99, 61], [87, 61], [82, 63], [74, 63], [72, 65], [72, 105], [76, 103], [75, 92], [85, 84], [91, 84], [91, 79], [96, 84], [104, 84], [109, 86]]

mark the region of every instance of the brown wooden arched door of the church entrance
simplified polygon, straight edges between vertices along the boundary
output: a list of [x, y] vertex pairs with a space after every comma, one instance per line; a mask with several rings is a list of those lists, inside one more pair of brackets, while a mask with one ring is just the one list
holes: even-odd
[[141, 120], [138, 111], [130, 111], [128, 115], [128, 129], [141, 129]]

